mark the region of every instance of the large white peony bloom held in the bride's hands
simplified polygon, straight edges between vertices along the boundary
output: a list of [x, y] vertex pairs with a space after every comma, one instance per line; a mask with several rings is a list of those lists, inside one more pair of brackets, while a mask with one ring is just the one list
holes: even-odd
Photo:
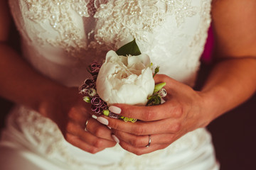
[[107, 52], [97, 76], [97, 94], [110, 106], [114, 103], [145, 106], [154, 91], [148, 55], [118, 56]]

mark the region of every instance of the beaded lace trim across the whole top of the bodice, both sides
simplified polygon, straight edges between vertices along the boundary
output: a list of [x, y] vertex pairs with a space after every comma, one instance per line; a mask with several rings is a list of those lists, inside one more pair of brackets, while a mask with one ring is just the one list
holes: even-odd
[[[196, 15], [197, 7], [191, 0], [23, 0], [28, 6], [26, 17], [41, 23], [48, 21], [58, 31], [57, 38], [48, 38], [46, 42], [54, 47], [62, 47], [74, 57], [90, 48], [100, 51], [117, 50], [126, 38], [136, 38], [149, 42], [147, 33], [154, 33], [161, 26], [166, 16], [176, 18], [177, 27], [185, 18]], [[161, 6], [161, 8], [159, 7]], [[89, 31], [82, 38], [80, 30], [70, 10], [81, 17], [92, 18], [97, 22], [95, 30]], [[94, 18], [94, 19], [93, 19]], [[93, 38], [92, 38], [93, 36]], [[41, 37], [37, 40], [43, 41]], [[45, 42], [41, 42], [44, 44]]]

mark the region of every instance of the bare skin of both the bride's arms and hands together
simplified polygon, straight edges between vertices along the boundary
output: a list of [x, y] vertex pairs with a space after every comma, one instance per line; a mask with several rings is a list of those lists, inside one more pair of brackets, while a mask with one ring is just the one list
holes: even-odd
[[[156, 83], [167, 84], [166, 103], [150, 107], [115, 105], [121, 108], [120, 115], [142, 121], [124, 123], [107, 117], [97, 118], [104, 123], [102, 125], [91, 118], [90, 106], [81, 100], [77, 89], [67, 88], [38, 74], [6, 45], [11, 17], [6, 0], [1, 1], [0, 95], [50, 118], [68, 142], [86, 152], [96, 153], [113, 147], [116, 142], [112, 133], [121, 147], [134, 154], [163, 149], [187, 132], [206, 127], [255, 92], [255, 7], [256, 2], [250, 0], [213, 1], [212, 17], [218, 44], [216, 56], [220, 62], [201, 91], [194, 91], [166, 75], [158, 75]], [[88, 119], [88, 131], [85, 132]], [[149, 142], [148, 135], [152, 142], [150, 147], [145, 147]]]

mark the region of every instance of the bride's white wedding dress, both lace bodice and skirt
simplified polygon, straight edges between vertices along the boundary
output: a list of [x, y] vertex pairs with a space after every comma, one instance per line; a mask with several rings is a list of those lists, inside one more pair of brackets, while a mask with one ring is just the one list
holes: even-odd
[[[41, 74], [79, 86], [87, 65], [136, 38], [161, 73], [193, 86], [210, 25], [210, 0], [9, 0], [23, 57]], [[42, 82], [43, 83], [43, 82]], [[137, 156], [116, 145], [97, 154], [66, 142], [57, 125], [16, 106], [1, 132], [0, 169], [219, 169], [204, 128]]]

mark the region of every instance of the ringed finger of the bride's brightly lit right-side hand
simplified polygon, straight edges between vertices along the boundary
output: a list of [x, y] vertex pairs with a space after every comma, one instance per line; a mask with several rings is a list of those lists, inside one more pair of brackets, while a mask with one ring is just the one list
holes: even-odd
[[[132, 145], [134, 147], [145, 147], [146, 145], [149, 144], [149, 135], [137, 136], [119, 130], [114, 130], [113, 132], [117, 139], [119, 139], [119, 141], [124, 141], [127, 144]], [[174, 134], [169, 133], [151, 135], [151, 145], [170, 144], [171, 142], [173, 142], [174, 136]]]

